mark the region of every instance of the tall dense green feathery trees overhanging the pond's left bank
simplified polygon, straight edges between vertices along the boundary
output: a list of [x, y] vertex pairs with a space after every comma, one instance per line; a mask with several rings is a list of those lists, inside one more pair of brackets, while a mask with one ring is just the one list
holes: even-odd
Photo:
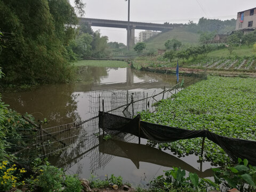
[[76, 23], [68, 0], [1, 1], [0, 63], [6, 75], [2, 81], [31, 84], [70, 79], [67, 47], [75, 37]]

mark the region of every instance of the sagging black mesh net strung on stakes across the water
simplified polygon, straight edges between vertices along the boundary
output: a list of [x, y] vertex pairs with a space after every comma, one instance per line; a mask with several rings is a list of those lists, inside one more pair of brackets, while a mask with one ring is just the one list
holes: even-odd
[[191, 131], [147, 123], [140, 121], [140, 116], [130, 119], [109, 113], [99, 113], [99, 126], [106, 132], [126, 132], [140, 138], [159, 143], [173, 142], [180, 139], [205, 137], [219, 145], [234, 161], [238, 157], [247, 159], [253, 166], [256, 165], [256, 141], [223, 137], [208, 130]]

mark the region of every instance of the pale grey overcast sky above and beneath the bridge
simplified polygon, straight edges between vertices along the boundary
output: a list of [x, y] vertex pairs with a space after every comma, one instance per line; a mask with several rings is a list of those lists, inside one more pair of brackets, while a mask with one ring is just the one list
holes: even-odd
[[[74, 5], [73, 0], [70, 0]], [[125, 20], [128, 17], [128, 1], [83, 0], [86, 3], [85, 18]], [[255, 0], [130, 0], [130, 21], [153, 23], [198, 22], [199, 18], [236, 19], [237, 12], [256, 7]], [[92, 27], [100, 29], [109, 42], [126, 44], [126, 29]], [[140, 30], [135, 30], [138, 36]]]

